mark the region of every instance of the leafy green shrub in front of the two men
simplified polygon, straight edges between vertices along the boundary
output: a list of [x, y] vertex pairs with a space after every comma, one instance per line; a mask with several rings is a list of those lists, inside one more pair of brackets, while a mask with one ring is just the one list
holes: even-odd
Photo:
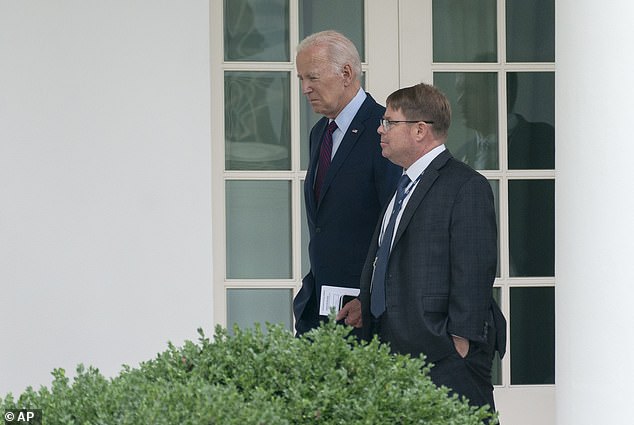
[[[42, 409], [44, 424], [481, 424], [485, 408], [448, 396], [422, 359], [326, 324], [302, 338], [279, 326], [218, 327], [213, 340], [168, 345], [112, 379], [53, 371], [50, 389], [28, 388], [4, 409]], [[494, 418], [492, 422], [496, 422]]]

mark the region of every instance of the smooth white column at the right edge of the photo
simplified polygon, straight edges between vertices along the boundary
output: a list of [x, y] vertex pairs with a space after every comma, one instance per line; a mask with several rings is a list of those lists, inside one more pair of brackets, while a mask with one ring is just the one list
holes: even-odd
[[557, 2], [558, 425], [634, 423], [633, 9]]

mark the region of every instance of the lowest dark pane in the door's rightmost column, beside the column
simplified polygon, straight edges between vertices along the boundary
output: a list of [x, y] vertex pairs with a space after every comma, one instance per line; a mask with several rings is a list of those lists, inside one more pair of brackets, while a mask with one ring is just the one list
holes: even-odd
[[511, 288], [511, 384], [555, 383], [555, 288]]

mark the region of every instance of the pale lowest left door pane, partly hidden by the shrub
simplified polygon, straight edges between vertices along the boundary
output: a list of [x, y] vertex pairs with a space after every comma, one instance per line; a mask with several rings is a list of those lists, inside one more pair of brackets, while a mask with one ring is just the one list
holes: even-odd
[[227, 328], [234, 324], [240, 328], [252, 328], [260, 323], [281, 323], [292, 329], [291, 305], [293, 292], [290, 289], [227, 289]]

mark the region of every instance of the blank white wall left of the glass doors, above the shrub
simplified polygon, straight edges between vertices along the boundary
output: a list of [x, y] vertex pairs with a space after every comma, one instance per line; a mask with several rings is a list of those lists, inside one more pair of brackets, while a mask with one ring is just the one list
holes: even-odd
[[206, 0], [0, 0], [0, 396], [211, 334]]

